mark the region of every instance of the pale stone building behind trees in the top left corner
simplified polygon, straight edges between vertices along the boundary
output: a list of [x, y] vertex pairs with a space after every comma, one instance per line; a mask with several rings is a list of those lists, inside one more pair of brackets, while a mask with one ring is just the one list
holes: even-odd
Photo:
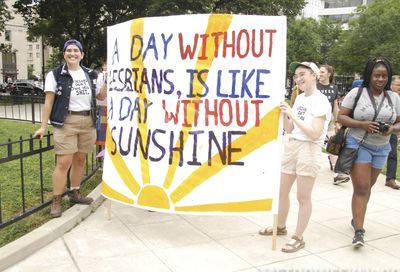
[[40, 38], [28, 41], [27, 26], [22, 16], [12, 8], [15, 0], [5, 0], [5, 3], [14, 18], [6, 22], [5, 31], [0, 36], [0, 44], [4, 48], [0, 53], [0, 83], [28, 79], [28, 70], [41, 79], [44, 64], [52, 50], [43, 47]]

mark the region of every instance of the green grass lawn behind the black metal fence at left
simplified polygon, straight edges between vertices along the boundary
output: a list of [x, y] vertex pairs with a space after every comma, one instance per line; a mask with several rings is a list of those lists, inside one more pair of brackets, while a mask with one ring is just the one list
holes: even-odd
[[[40, 124], [32, 124], [30, 122], [0, 120], [0, 144], [16, 141], [21, 136], [22, 139], [29, 138], [38, 128]], [[48, 127], [52, 129], [51, 126]], [[39, 140], [33, 141], [33, 148], [39, 147]], [[50, 143], [52, 144], [52, 143]], [[45, 145], [45, 144], [43, 144]], [[12, 154], [19, 154], [30, 150], [29, 141], [22, 145], [19, 143], [10, 143], [0, 146], [0, 158], [7, 157]], [[22, 192], [21, 192], [21, 173], [24, 176], [24, 194], [26, 209], [37, 206], [41, 203], [41, 186], [43, 186], [43, 199], [47, 201], [52, 197], [52, 181], [51, 176], [55, 165], [54, 151], [46, 151], [42, 153], [42, 169], [40, 171], [40, 155], [35, 154], [21, 160], [14, 160], [0, 164], [0, 199], [1, 199], [1, 216], [2, 221], [6, 221], [13, 216], [22, 212]], [[89, 162], [89, 169], [91, 165]], [[42, 177], [43, 183], [40, 184]], [[101, 182], [101, 171], [98, 171], [89, 181], [82, 187], [82, 192], [88, 194]], [[63, 208], [69, 207], [68, 201], [65, 199]], [[21, 221], [0, 229], [0, 247], [23, 236], [27, 232], [39, 227], [43, 223], [50, 220], [50, 207], [37, 212]]]

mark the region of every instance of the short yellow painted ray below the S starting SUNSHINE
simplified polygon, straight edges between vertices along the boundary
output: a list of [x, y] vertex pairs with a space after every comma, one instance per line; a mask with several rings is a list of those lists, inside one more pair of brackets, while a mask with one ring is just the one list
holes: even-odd
[[[129, 171], [128, 166], [125, 164], [124, 159], [122, 158], [121, 154], [119, 153], [118, 149], [116, 146], [112, 146], [114, 143], [112, 139], [111, 132], [109, 130], [109, 127], [107, 126], [107, 132], [106, 132], [106, 149], [109, 158], [111, 159], [112, 163], [115, 166], [115, 169], [117, 170], [119, 176], [121, 179], [124, 181], [125, 185], [128, 187], [128, 189], [134, 194], [137, 195], [140, 190], [140, 185], [136, 181], [136, 179], [132, 176], [131, 172]], [[115, 154], [111, 154], [112, 150], [115, 149]]]

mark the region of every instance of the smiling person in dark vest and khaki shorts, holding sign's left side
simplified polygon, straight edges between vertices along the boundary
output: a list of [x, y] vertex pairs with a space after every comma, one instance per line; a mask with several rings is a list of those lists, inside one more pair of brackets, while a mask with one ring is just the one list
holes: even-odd
[[96, 86], [97, 73], [81, 65], [83, 47], [78, 40], [64, 44], [65, 64], [53, 69], [46, 76], [45, 102], [42, 124], [34, 137], [43, 138], [47, 123], [54, 126], [54, 151], [57, 162], [53, 172], [53, 201], [51, 217], [60, 217], [61, 198], [70, 171], [69, 201], [89, 205], [93, 199], [80, 192], [86, 154], [96, 140], [96, 98], [104, 99], [106, 86]]

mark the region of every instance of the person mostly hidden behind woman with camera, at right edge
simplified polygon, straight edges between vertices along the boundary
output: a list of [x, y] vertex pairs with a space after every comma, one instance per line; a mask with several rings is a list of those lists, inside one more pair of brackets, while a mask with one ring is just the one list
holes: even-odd
[[[390, 85], [392, 92], [400, 95], [400, 76], [394, 75], [392, 77], [392, 84]], [[386, 164], [386, 186], [392, 189], [399, 190], [400, 186], [396, 183], [396, 172], [397, 172], [397, 134], [393, 133], [389, 139], [391, 151], [389, 152], [387, 164]]]

